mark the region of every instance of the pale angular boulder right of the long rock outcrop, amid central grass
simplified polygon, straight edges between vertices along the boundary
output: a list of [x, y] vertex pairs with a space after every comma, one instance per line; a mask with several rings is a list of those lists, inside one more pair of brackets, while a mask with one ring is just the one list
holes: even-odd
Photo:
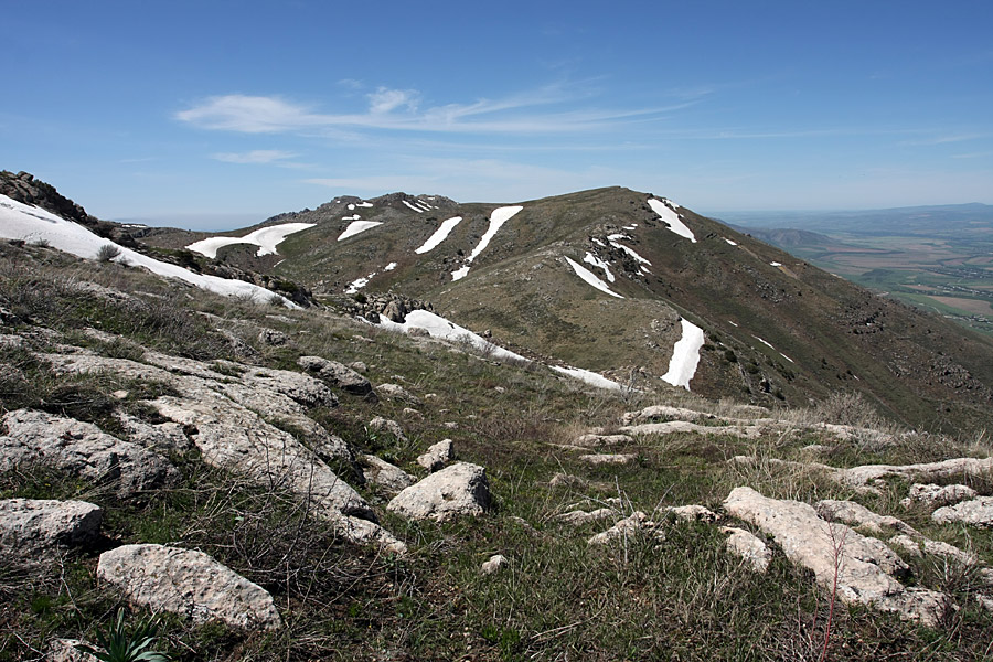
[[480, 515], [490, 506], [485, 469], [458, 462], [410, 485], [386, 504], [412, 520], [442, 522], [458, 515]]

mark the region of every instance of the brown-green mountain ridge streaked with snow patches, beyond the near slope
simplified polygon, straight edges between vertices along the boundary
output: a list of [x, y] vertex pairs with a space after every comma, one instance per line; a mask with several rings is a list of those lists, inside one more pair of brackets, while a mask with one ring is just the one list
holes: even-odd
[[[260, 247], [266, 234], [278, 247]], [[639, 388], [672, 376], [686, 321], [704, 338], [688, 386], [708, 397], [796, 405], [843, 389], [914, 425], [990, 420], [990, 339], [649, 193], [499, 205], [344, 196], [223, 235], [141, 241], [301, 282], [345, 309], [415, 298], [519, 354]]]

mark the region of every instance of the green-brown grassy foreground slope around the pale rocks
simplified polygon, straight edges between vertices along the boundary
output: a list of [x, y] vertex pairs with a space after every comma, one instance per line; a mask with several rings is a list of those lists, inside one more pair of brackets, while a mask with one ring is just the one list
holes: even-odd
[[[164, 298], [153, 299], [158, 305], [147, 314], [125, 314], [119, 305], [72, 287], [78, 280]], [[816, 474], [767, 463], [743, 468], [725, 460], [739, 453], [798, 459], [804, 457], [803, 446], [823, 442], [831, 446], [826, 460], [832, 463], [921, 461], [957, 456], [976, 441], [917, 437], [869, 448], [810, 434], [751, 441], [673, 435], [619, 449], [638, 455], [632, 466], [595, 468], [554, 444], [568, 441], [588, 426], [612, 428], [621, 412], [647, 402], [587, 393], [545, 372], [494, 364], [327, 313], [267, 310], [189, 293], [118, 265], [79, 266], [45, 249], [3, 247], [0, 255], [0, 295], [14, 313], [33, 320], [17, 330], [50, 327], [61, 334], [38, 337], [41, 345], [68, 341], [137, 357], [140, 352], [131, 344], [137, 342], [200, 359], [233, 357], [212, 330], [213, 322], [192, 312], [200, 310], [220, 316], [223, 327], [255, 344], [266, 365], [292, 367], [299, 354], [361, 360], [374, 383], [399, 381], [421, 397], [434, 393], [421, 408], [423, 420], [403, 418], [402, 404], [373, 405], [346, 395], [337, 409], [311, 414], [356, 448], [408, 470], [416, 469], [413, 460], [427, 445], [452, 438], [463, 459], [488, 468], [496, 509], [445, 525], [385, 515], [385, 525], [412, 547], [407, 557], [395, 558], [335, 541], [292, 500], [207, 469], [195, 453], [173, 458], [184, 477], [174, 490], [131, 502], [50, 471], [0, 476], [2, 496], [85, 498], [105, 506], [108, 546], [179, 542], [214, 555], [274, 594], [287, 623], [277, 633], [239, 633], [166, 619], [162, 644], [181, 660], [813, 659], [825, 637], [829, 595], [781, 553], [770, 574], [758, 576], [724, 551], [716, 527], [674, 522], [665, 524], [664, 542], [634, 538], [600, 551], [589, 548], [586, 538], [606, 524], [573, 530], [555, 515], [576, 502], [591, 510], [617, 496], [624, 513], [684, 503], [716, 508], [739, 484], [783, 498], [852, 496]], [[88, 339], [79, 332], [88, 325], [120, 340]], [[292, 344], [258, 345], [252, 331], [257, 325], [289, 333]], [[119, 431], [111, 412], [124, 407], [141, 415], [135, 401], [154, 388], [121, 384], [114, 375], [56, 382], [28, 353], [2, 352], [0, 397], [6, 409], [41, 407]], [[132, 391], [124, 402], [109, 395], [121, 387]], [[677, 404], [713, 407], [688, 394], [682, 398]], [[364, 421], [374, 415], [403, 420], [410, 441], [367, 434]], [[445, 428], [444, 421], [458, 428]], [[559, 471], [586, 479], [588, 487], [551, 488], [549, 479]], [[897, 500], [904, 487], [856, 499], [938, 540], [971, 545], [993, 563], [987, 532], [937, 526], [925, 512], [901, 509]], [[975, 487], [985, 493], [993, 490], [990, 479]], [[382, 508], [382, 498], [365, 494]], [[70, 552], [56, 572], [0, 566], [0, 660], [36, 659], [33, 651], [47, 638], [92, 637], [98, 623], [109, 620], [118, 600], [95, 581], [98, 552]], [[510, 559], [509, 568], [482, 576], [479, 565], [494, 553]], [[974, 574], [933, 559], [908, 560], [919, 585], [950, 590], [962, 608], [936, 630], [840, 609], [829, 642], [831, 659], [962, 660], [989, 654], [993, 618], [972, 598]]]

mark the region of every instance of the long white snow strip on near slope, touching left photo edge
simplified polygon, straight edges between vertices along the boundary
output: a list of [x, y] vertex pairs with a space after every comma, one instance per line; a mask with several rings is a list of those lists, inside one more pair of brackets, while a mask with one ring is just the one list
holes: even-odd
[[[274, 297], [279, 297], [274, 291], [244, 280], [204, 276], [177, 265], [159, 261], [99, 237], [77, 223], [60, 218], [45, 210], [17, 202], [7, 195], [0, 195], [0, 237], [22, 239], [29, 244], [47, 242], [53, 248], [87, 259], [96, 257], [102, 246], [111, 245], [120, 252], [115, 261], [145, 267], [159, 276], [178, 278], [213, 292], [247, 297], [259, 302], [268, 302]], [[284, 306], [297, 308], [288, 299], [284, 297], [279, 297], [279, 299]]]

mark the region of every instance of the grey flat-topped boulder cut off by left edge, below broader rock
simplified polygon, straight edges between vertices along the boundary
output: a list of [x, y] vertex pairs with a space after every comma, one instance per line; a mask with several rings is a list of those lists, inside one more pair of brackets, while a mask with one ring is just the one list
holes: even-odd
[[86, 545], [100, 535], [104, 511], [85, 501], [0, 500], [0, 551], [34, 555], [61, 545]]

